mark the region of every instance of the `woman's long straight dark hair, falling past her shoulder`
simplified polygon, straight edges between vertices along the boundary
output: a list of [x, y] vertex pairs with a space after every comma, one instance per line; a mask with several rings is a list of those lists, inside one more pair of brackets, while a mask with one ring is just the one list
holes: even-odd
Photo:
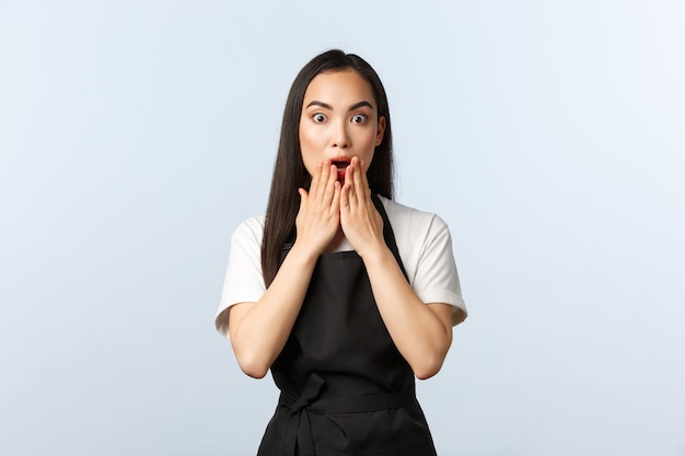
[[300, 150], [299, 129], [304, 93], [317, 74], [342, 70], [355, 70], [369, 82], [375, 96], [379, 118], [385, 117], [383, 141], [374, 150], [367, 178], [371, 191], [393, 198], [393, 135], [387, 96], [381, 79], [365, 60], [355, 54], [332, 49], [314, 57], [300, 70], [286, 102], [262, 242], [262, 270], [266, 287], [276, 277], [283, 245], [295, 235], [295, 218], [300, 209], [298, 188], [309, 188], [311, 183]]

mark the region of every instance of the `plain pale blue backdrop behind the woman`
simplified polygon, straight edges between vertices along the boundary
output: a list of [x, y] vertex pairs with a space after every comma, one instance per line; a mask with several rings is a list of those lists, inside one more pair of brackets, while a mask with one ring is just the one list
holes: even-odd
[[0, 454], [255, 453], [230, 235], [338, 47], [454, 241], [439, 454], [685, 455], [684, 46], [678, 0], [0, 0]]

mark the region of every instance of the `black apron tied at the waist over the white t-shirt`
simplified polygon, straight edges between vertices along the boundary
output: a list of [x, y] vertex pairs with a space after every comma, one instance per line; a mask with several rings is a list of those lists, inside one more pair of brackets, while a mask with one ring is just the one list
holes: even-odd
[[[372, 199], [404, 271], [385, 209]], [[318, 258], [271, 375], [281, 394], [258, 456], [436, 455], [414, 373], [385, 328], [356, 252]]]

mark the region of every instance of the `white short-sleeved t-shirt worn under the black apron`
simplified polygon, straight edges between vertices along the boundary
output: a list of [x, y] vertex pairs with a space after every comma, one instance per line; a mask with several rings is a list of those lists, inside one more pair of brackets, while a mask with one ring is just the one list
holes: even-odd
[[[403, 206], [384, 197], [387, 219], [395, 234], [397, 250], [417, 296], [425, 303], [444, 303], [453, 306], [452, 324], [461, 321], [461, 308], [466, 314], [458, 274], [452, 253], [452, 237], [445, 222], [438, 215]], [[264, 215], [241, 223], [231, 237], [231, 253], [227, 268], [221, 303], [216, 325], [228, 337], [229, 313], [233, 304], [257, 302], [265, 293], [262, 276], [262, 237]], [[340, 250], [351, 250], [342, 246]]]

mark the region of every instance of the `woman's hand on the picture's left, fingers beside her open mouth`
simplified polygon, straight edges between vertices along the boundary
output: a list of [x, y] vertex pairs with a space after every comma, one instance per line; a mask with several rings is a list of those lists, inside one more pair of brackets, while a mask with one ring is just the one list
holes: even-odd
[[311, 248], [316, 256], [326, 250], [340, 226], [340, 188], [336, 166], [325, 160], [316, 166], [310, 191], [298, 189], [300, 211], [295, 218], [295, 245]]

